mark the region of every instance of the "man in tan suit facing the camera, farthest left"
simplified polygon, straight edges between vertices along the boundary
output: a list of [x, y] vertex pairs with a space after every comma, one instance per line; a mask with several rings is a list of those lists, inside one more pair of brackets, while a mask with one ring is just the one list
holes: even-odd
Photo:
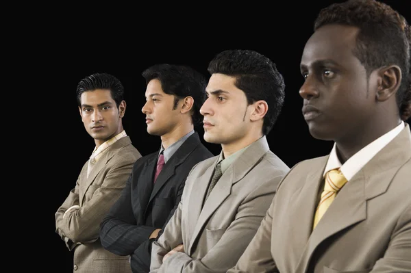
[[105, 250], [99, 239], [101, 220], [141, 157], [123, 129], [123, 96], [119, 79], [107, 73], [95, 73], [77, 85], [80, 116], [95, 149], [55, 213], [56, 232], [74, 251], [74, 272], [132, 272], [128, 258]]

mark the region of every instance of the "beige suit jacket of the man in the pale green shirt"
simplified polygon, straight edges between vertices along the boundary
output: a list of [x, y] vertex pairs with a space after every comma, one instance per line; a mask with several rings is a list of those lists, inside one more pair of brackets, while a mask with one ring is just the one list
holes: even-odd
[[[224, 172], [201, 209], [218, 158], [192, 168], [178, 208], [153, 243], [151, 272], [208, 273], [232, 268], [289, 170], [269, 151], [266, 138], [260, 138]], [[164, 255], [179, 244], [184, 244], [184, 252], [162, 263]]]

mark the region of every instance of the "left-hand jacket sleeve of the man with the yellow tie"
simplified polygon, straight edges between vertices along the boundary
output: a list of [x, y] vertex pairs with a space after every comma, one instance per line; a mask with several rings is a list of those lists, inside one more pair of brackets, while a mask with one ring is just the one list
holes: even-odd
[[236, 266], [227, 273], [246, 272], [278, 272], [273, 257], [271, 257], [271, 225], [273, 222], [274, 199], [266, 216], [261, 222], [260, 228], [251, 240], [249, 246], [241, 255]]

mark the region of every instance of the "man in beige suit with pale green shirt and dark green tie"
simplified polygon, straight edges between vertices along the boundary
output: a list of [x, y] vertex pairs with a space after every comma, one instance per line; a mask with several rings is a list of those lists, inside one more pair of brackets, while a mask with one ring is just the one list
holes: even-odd
[[284, 102], [275, 64], [255, 51], [223, 51], [208, 71], [204, 140], [222, 151], [188, 174], [179, 206], [153, 242], [151, 272], [232, 268], [289, 170], [266, 140]]

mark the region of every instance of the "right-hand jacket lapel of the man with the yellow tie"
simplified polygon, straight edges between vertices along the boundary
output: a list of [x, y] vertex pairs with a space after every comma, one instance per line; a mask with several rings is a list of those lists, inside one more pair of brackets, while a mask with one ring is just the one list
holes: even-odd
[[312, 231], [297, 265], [297, 272], [306, 272], [310, 258], [321, 242], [366, 219], [366, 201], [384, 194], [399, 167], [410, 159], [411, 149], [404, 149], [404, 144], [411, 146], [408, 125], [338, 192], [334, 202]]

